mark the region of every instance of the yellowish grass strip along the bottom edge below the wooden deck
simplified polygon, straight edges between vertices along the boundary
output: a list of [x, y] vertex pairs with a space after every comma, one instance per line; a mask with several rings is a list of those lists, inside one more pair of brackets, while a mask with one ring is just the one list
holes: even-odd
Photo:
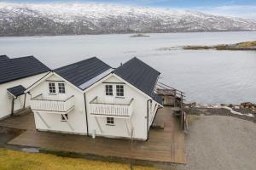
[[[0, 148], [1, 170], [129, 170], [130, 166], [121, 163], [90, 161], [67, 158], [42, 153], [26, 153]], [[153, 170], [153, 167], [135, 167], [136, 170]]]

